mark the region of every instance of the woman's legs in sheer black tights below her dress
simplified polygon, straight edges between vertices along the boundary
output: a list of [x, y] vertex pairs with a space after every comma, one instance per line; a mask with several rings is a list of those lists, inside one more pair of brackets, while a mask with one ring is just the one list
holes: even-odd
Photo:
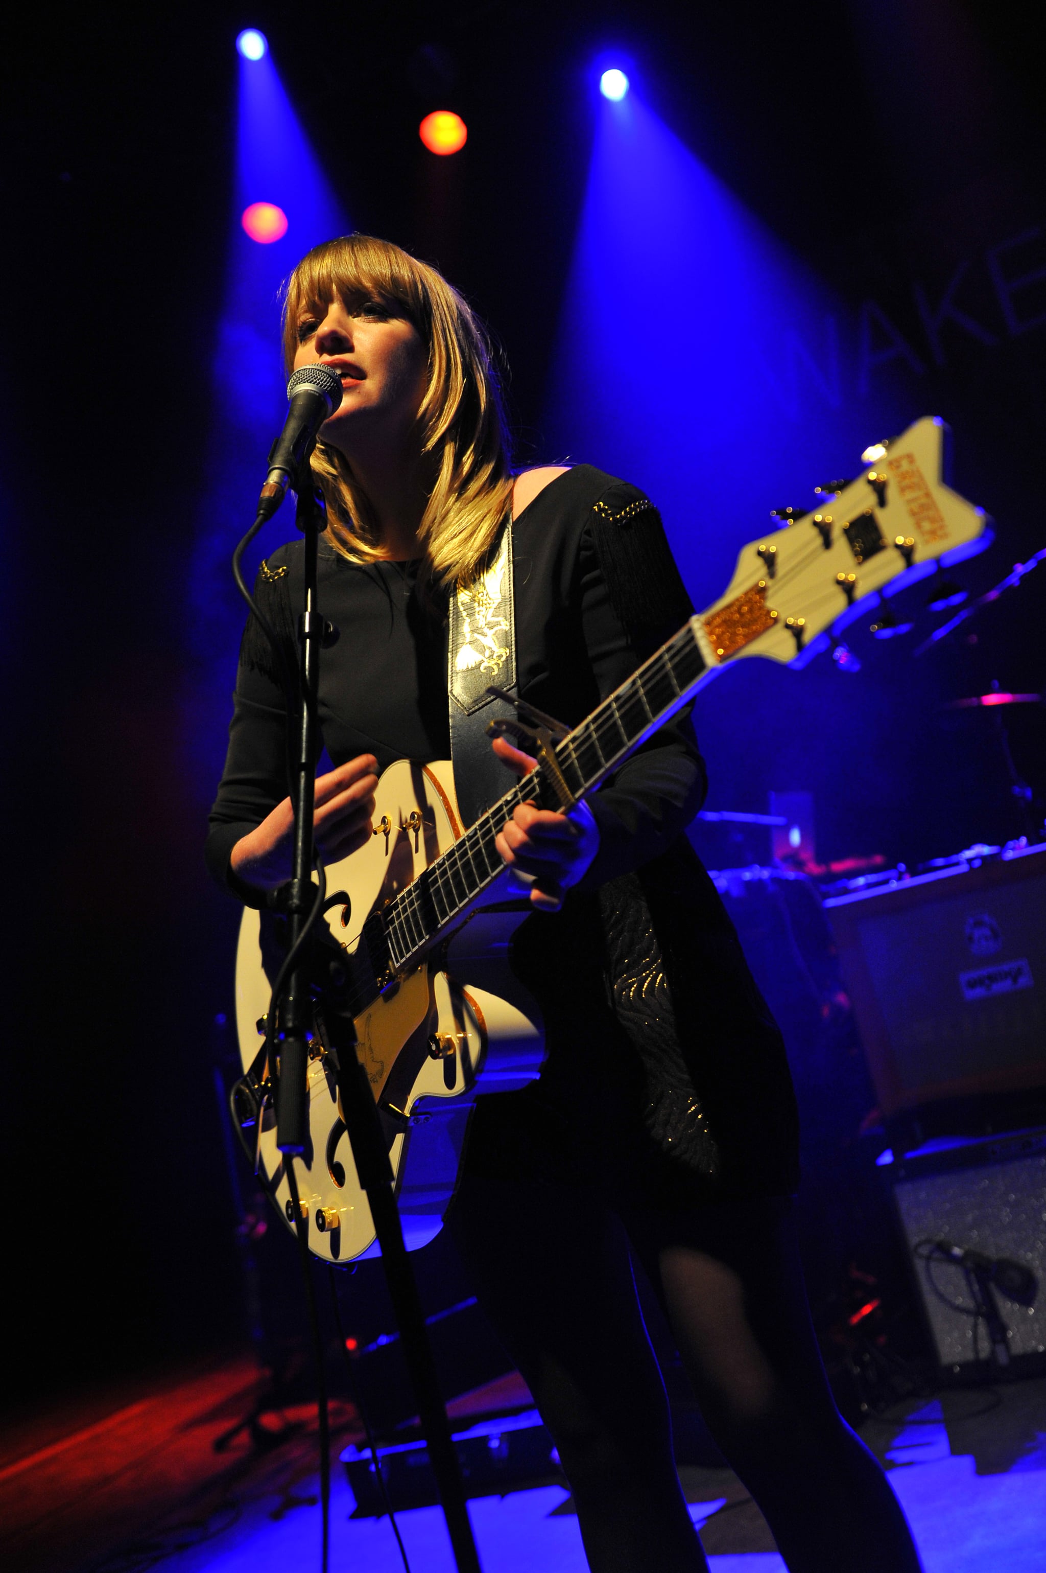
[[617, 1214], [577, 1191], [462, 1183], [448, 1225], [555, 1441], [591, 1573], [708, 1573], [629, 1243], [791, 1573], [919, 1573], [886, 1475], [832, 1400], [788, 1211]]

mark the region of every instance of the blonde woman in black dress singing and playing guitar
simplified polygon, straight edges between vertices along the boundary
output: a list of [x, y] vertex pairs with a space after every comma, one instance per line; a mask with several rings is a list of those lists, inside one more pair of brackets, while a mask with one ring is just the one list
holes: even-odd
[[[343, 389], [313, 456], [319, 606], [341, 631], [319, 683], [330, 864], [371, 834], [382, 769], [450, 758], [447, 607], [508, 518], [519, 695], [571, 727], [691, 607], [634, 486], [588, 464], [513, 477], [489, 344], [434, 269], [359, 234], [316, 247], [291, 277], [283, 346], [288, 370], [319, 360]], [[291, 658], [300, 579], [296, 541], [256, 587]], [[252, 621], [208, 849], [253, 906], [291, 873], [283, 706]], [[533, 760], [494, 749], [506, 791]], [[706, 1568], [632, 1255], [791, 1573], [915, 1573], [818, 1354], [790, 1224], [785, 1049], [683, 834], [703, 793], [684, 714], [569, 815], [527, 804], [499, 837], [533, 906], [513, 964], [547, 1057], [530, 1087], [477, 1101], [447, 1225], [555, 1441], [593, 1573]]]

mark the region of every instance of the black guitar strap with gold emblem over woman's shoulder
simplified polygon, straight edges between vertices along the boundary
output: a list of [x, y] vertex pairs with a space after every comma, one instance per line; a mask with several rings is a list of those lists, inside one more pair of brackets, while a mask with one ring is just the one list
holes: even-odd
[[450, 757], [467, 827], [516, 780], [486, 731], [491, 720], [514, 716], [511, 705], [488, 694], [491, 683], [508, 694], [517, 683], [511, 516], [486, 571], [450, 599], [448, 669]]

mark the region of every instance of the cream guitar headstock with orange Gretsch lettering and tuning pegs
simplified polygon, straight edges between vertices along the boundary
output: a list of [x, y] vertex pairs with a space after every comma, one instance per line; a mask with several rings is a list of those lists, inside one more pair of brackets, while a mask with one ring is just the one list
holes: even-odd
[[[788, 510], [780, 530], [749, 541], [727, 593], [705, 610], [709, 667], [768, 656], [802, 667], [856, 617], [991, 543], [983, 508], [941, 478], [947, 426], [933, 415], [867, 450], [860, 475], [824, 488], [824, 503]], [[706, 642], [706, 643], [705, 643]]]

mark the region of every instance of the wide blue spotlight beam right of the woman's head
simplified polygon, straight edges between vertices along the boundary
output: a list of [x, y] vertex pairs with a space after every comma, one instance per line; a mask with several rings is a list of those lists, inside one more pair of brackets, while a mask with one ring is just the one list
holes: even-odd
[[771, 508], [904, 425], [886, 376], [849, 396], [848, 349], [824, 285], [635, 90], [599, 101], [544, 434], [651, 494], [698, 606]]

